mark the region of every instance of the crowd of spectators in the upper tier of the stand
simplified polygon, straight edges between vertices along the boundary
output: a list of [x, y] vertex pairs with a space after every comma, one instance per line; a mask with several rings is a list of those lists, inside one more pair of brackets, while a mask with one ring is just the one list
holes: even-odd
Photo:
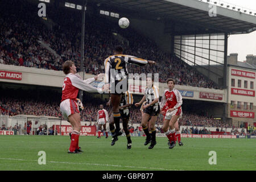
[[[81, 25], [77, 21], [80, 19], [79, 12], [49, 7], [47, 18], [52, 19], [55, 24], [47, 28], [42, 19], [35, 15], [37, 9], [27, 5], [27, 1], [3, 1], [5, 6], [0, 7], [0, 63], [61, 70], [64, 61], [71, 59], [80, 69]], [[158, 63], [144, 67], [129, 65], [130, 73], [159, 73], [160, 82], [173, 77], [180, 85], [217, 88], [196, 69], [176, 56], [164, 53], [154, 42], [131, 28], [121, 30], [117, 23], [112, 23], [99, 14], [86, 14], [85, 30], [86, 73], [97, 75], [104, 72], [104, 59], [112, 54], [114, 46], [124, 43], [125, 54]], [[113, 32], [121, 35], [122, 40], [115, 38]], [[38, 40], [48, 44], [59, 56], [40, 46]]]

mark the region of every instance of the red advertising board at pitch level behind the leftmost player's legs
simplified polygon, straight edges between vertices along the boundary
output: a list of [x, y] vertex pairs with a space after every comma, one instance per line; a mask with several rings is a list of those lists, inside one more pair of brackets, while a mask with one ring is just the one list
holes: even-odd
[[[60, 125], [56, 125], [56, 130], [60, 133]], [[61, 125], [61, 135], [69, 135], [72, 130], [70, 125]], [[82, 126], [80, 136], [96, 136], [96, 126]]]

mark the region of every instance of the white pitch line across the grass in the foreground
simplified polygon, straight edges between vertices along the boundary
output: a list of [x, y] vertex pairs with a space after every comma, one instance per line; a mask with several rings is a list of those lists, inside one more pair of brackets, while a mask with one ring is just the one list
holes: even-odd
[[[22, 160], [27, 162], [38, 162], [38, 160], [25, 160], [25, 159], [11, 159], [11, 158], [0, 158], [2, 160]], [[177, 169], [165, 169], [165, 168], [155, 168], [155, 167], [137, 167], [137, 166], [121, 166], [114, 164], [91, 164], [91, 163], [71, 163], [71, 162], [58, 162], [58, 161], [48, 161], [49, 163], [61, 163], [61, 164], [80, 164], [89, 166], [111, 166], [111, 167], [125, 167], [125, 168], [139, 168], [139, 169], [158, 169], [163, 171], [179, 171]]]

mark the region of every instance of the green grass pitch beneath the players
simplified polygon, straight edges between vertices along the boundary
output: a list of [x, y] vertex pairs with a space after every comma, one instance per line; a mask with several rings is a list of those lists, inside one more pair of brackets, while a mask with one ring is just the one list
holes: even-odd
[[[81, 154], [68, 154], [69, 136], [0, 136], [0, 170], [255, 170], [255, 139], [181, 138], [184, 146], [168, 148], [167, 138], [156, 138], [156, 146], [144, 146], [145, 137], [126, 137], [114, 146], [111, 138], [80, 137]], [[46, 165], [39, 165], [39, 151], [46, 152]], [[210, 165], [209, 151], [216, 151], [217, 164]]]

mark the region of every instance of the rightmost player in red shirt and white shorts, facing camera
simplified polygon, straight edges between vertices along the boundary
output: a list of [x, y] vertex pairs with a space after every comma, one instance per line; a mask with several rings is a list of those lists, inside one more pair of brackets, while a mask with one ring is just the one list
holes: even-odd
[[[169, 89], [163, 92], [160, 110], [162, 110], [162, 114], [165, 115], [163, 131], [171, 142], [169, 148], [174, 148], [176, 138], [175, 124], [182, 116], [182, 96], [179, 90], [174, 88], [175, 81], [172, 78], [168, 78], [166, 82]], [[168, 130], [168, 127], [170, 127], [170, 130]]]

